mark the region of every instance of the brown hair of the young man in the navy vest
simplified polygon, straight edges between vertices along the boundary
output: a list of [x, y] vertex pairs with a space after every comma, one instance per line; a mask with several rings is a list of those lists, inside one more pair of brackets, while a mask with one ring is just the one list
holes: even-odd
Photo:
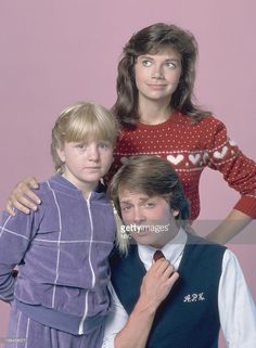
[[107, 188], [113, 201], [117, 221], [116, 245], [120, 253], [127, 254], [129, 239], [121, 231], [121, 209], [119, 192], [129, 190], [149, 197], [161, 196], [168, 202], [171, 210], [178, 210], [177, 225], [187, 227], [190, 206], [182, 184], [167, 159], [156, 156], [131, 156], [114, 175]]

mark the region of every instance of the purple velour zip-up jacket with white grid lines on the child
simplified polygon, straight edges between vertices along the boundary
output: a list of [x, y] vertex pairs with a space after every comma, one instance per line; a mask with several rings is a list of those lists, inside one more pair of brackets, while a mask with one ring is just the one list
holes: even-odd
[[101, 324], [110, 307], [107, 258], [116, 229], [112, 205], [101, 185], [86, 199], [60, 175], [42, 182], [38, 195], [37, 211], [2, 214], [0, 298], [15, 299], [43, 324], [82, 334]]

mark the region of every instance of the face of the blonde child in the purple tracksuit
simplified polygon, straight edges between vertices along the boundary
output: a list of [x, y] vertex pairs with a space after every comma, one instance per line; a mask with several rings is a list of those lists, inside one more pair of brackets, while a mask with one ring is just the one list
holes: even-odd
[[63, 177], [88, 195], [108, 171], [113, 145], [108, 141], [65, 142], [57, 150], [64, 163]]

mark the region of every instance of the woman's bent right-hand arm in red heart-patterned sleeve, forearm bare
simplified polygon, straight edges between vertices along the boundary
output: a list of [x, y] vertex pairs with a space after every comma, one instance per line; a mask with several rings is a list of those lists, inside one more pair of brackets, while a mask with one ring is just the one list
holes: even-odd
[[215, 129], [210, 129], [212, 137], [207, 138], [209, 150], [204, 156], [208, 166], [219, 170], [228, 184], [241, 194], [233, 210], [207, 236], [213, 242], [225, 244], [256, 218], [256, 164], [229, 139], [221, 121], [212, 119], [212, 123]]

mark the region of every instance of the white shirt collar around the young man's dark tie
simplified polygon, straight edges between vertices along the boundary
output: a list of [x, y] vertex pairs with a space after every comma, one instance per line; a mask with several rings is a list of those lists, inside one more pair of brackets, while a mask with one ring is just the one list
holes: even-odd
[[[187, 233], [182, 228], [180, 228], [177, 235], [169, 243], [164, 245], [164, 247], [161, 249], [165, 255], [166, 259], [170, 261], [170, 263], [174, 265], [177, 258], [181, 255], [187, 240]], [[152, 265], [152, 259], [155, 250], [156, 248], [153, 246], [138, 244], [139, 257], [146, 269], [149, 269]]]

